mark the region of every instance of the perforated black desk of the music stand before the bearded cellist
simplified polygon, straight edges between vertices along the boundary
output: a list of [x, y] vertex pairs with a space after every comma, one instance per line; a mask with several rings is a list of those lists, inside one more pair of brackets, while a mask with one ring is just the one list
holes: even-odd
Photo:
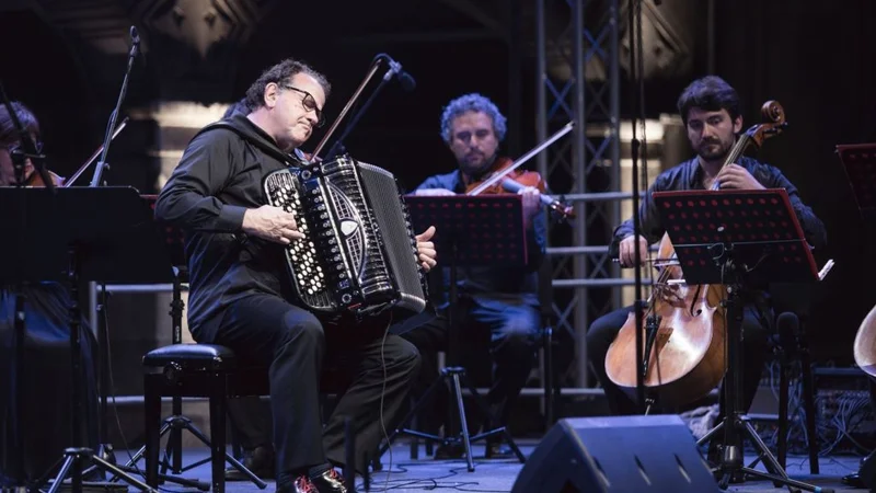
[[751, 282], [818, 280], [784, 188], [655, 192], [654, 202], [689, 285], [724, 284], [717, 259], [727, 243]]

